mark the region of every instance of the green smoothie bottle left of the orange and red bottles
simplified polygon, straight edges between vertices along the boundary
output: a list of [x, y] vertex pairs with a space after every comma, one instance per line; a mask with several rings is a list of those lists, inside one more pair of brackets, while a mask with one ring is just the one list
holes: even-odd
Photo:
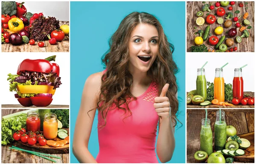
[[204, 97], [204, 101], [207, 100], [206, 88], [207, 85], [204, 75], [204, 68], [198, 68], [198, 77], [196, 78], [196, 92], [201, 97]]

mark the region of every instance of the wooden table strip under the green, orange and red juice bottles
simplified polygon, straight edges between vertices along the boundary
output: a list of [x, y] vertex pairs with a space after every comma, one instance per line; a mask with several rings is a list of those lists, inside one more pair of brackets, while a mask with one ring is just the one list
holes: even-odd
[[[188, 94], [188, 92], [187, 92]], [[244, 92], [244, 94], [249, 94], [250, 96], [254, 96], [254, 92]], [[232, 102], [229, 102], [232, 104]], [[254, 105], [234, 105], [234, 106], [222, 106], [222, 105], [207, 105], [207, 106], [201, 106], [201, 105], [187, 105], [187, 108], [254, 108]]]

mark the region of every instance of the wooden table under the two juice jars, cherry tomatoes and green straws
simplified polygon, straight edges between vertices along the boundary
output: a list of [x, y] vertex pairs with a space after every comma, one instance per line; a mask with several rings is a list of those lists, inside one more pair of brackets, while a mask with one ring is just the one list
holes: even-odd
[[[19, 111], [24, 111], [24, 109], [23, 110], [2, 109], [2, 116], [13, 114]], [[9, 149], [9, 147], [11, 147], [12, 145], [19, 148], [23, 148], [25, 150], [42, 152], [41, 150], [24, 146], [18, 142], [13, 142], [12, 144], [9, 144], [9, 145], [2, 145], [2, 163], [54, 163], [47, 159], [29, 154], [29, 153], [25, 153], [23, 151]], [[53, 160], [56, 160], [57, 163], [69, 163], [69, 154], [51, 154], [51, 155], [61, 157], [61, 159], [51, 158]]]

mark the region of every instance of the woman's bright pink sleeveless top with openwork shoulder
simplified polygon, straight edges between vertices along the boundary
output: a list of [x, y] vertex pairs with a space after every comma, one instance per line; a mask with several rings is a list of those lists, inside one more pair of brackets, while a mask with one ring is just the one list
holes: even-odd
[[[157, 83], [151, 82], [144, 94], [129, 103], [130, 117], [119, 108], [108, 111], [105, 127], [98, 129], [98, 163], [158, 163], [155, 152], [158, 115], [153, 106], [157, 94]], [[98, 126], [104, 124], [100, 113], [98, 121]]]

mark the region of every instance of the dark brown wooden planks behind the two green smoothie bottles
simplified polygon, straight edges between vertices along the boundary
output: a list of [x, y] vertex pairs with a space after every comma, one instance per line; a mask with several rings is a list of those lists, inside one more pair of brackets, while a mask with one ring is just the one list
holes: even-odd
[[[246, 134], [254, 132], [254, 110], [253, 109], [225, 109], [227, 125], [233, 125], [237, 133]], [[212, 142], [214, 144], [214, 122], [216, 110], [208, 109], [208, 118], [211, 121]], [[195, 163], [194, 154], [200, 150], [201, 119], [205, 118], [202, 109], [187, 109], [187, 163]], [[241, 162], [239, 162], [241, 163]]]

